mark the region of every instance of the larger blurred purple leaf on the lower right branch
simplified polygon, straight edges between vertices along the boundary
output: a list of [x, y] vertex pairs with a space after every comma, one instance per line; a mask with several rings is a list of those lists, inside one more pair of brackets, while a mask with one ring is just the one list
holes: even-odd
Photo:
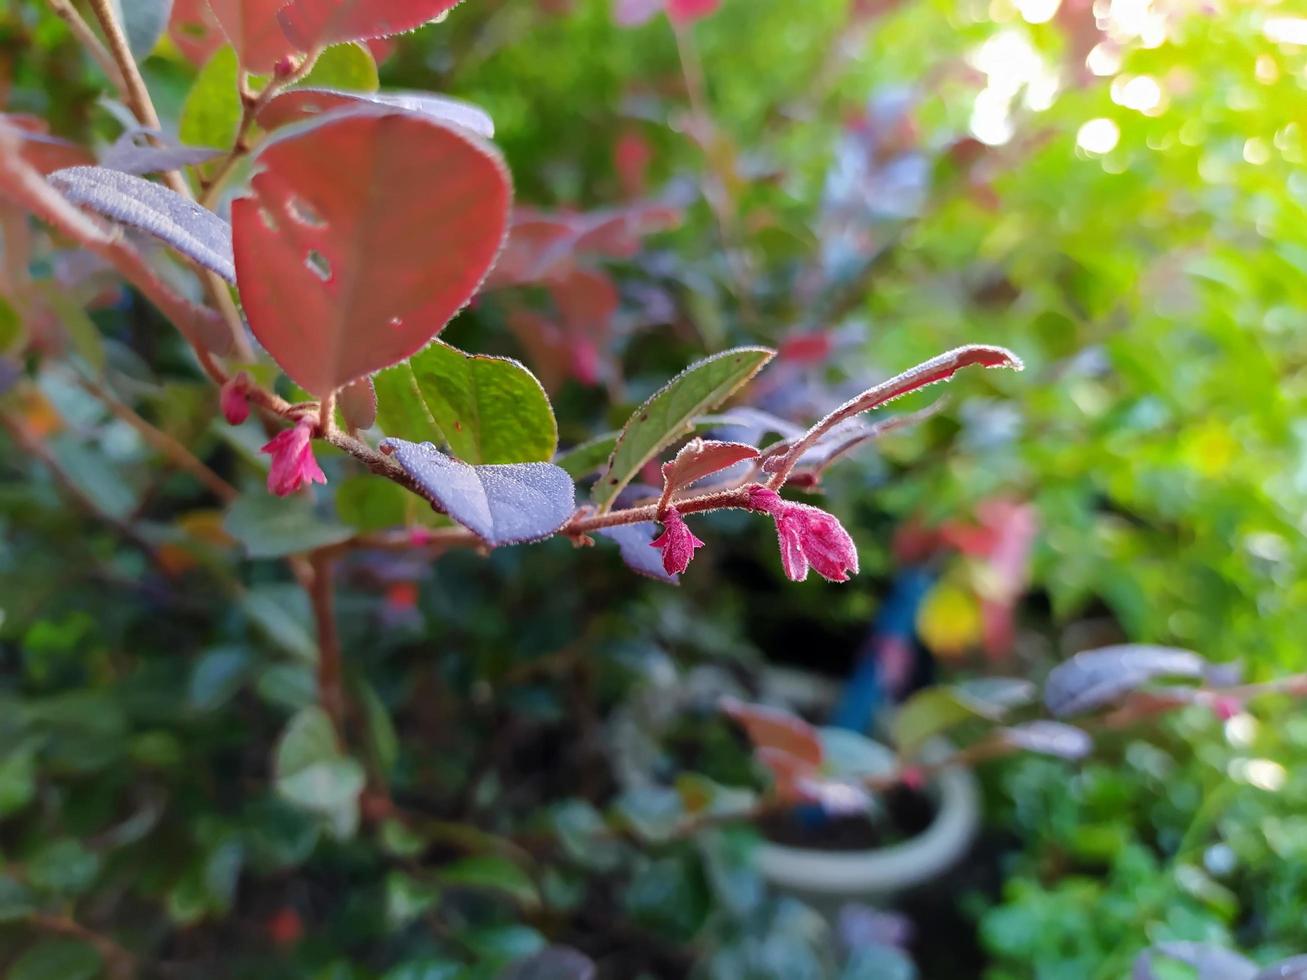
[[1176, 647], [1123, 643], [1086, 649], [1055, 666], [1044, 681], [1053, 715], [1078, 715], [1108, 704], [1154, 677], [1201, 677], [1206, 661]]

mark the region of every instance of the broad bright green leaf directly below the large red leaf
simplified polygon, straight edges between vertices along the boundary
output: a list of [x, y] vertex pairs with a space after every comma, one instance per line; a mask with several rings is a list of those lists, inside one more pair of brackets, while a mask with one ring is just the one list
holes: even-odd
[[382, 429], [444, 443], [464, 463], [545, 463], [558, 447], [549, 396], [510, 358], [435, 341], [374, 380]]

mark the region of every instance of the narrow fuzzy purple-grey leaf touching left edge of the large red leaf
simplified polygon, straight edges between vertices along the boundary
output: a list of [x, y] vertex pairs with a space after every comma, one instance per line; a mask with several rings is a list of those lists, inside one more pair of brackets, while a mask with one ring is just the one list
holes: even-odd
[[68, 167], [48, 179], [73, 204], [145, 231], [235, 284], [231, 227], [212, 210], [162, 184], [106, 167]]

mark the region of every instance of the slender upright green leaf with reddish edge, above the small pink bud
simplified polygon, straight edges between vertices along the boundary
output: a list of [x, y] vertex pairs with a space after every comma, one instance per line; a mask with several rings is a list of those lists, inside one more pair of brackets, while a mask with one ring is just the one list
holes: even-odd
[[720, 405], [771, 361], [769, 348], [735, 348], [690, 365], [635, 409], [617, 439], [593, 502], [606, 511], [640, 468], [682, 435], [695, 416]]

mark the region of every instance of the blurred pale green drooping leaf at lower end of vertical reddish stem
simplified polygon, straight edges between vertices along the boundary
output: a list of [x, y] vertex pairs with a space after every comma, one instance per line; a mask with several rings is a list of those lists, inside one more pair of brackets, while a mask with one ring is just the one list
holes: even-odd
[[273, 763], [277, 792], [297, 806], [324, 817], [339, 838], [358, 826], [363, 767], [345, 755], [327, 712], [303, 708], [286, 725]]

